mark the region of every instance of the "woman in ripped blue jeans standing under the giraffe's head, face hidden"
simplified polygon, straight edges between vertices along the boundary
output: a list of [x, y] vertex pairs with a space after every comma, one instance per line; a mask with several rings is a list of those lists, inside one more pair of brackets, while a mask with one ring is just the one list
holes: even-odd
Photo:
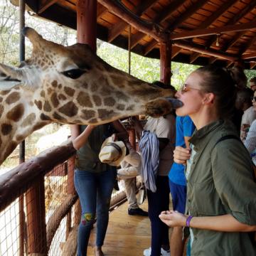
[[74, 124], [70, 128], [73, 146], [78, 150], [74, 182], [82, 207], [78, 228], [78, 256], [87, 255], [87, 245], [95, 213], [97, 213], [95, 255], [103, 256], [102, 245], [107, 231], [110, 198], [117, 170], [114, 166], [102, 164], [99, 153], [102, 142], [114, 131], [122, 133], [124, 137], [127, 136], [127, 132], [119, 121], [97, 127]]

